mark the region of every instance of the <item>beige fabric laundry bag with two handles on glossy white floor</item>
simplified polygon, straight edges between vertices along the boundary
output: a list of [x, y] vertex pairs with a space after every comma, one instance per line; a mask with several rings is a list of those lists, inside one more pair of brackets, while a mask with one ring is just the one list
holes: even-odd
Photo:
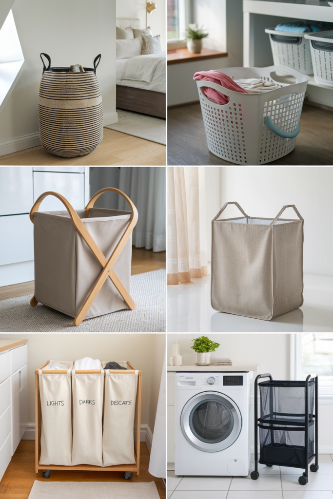
[[[243, 216], [218, 220], [228, 204]], [[280, 219], [294, 208], [299, 220]], [[219, 312], [271, 320], [303, 304], [303, 218], [295, 205], [275, 219], [229, 202], [212, 220], [211, 304]]]

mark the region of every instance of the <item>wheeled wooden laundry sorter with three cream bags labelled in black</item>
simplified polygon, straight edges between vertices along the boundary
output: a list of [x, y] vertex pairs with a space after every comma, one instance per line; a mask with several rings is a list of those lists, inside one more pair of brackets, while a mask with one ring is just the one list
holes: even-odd
[[[117, 361], [121, 367], [126, 367], [126, 370], [73, 370], [73, 362], [59, 362], [65, 365], [68, 364], [68, 369], [66, 371], [43, 369], [48, 363], [55, 363], [55, 361], [47, 361], [35, 370], [35, 472], [38, 473], [39, 470], [43, 470], [44, 478], [49, 478], [51, 470], [125, 472], [125, 480], [129, 480], [132, 477], [133, 472], [136, 472], [136, 474], [139, 475], [142, 371], [135, 369], [135, 367], [128, 361]], [[106, 362], [103, 361], [102, 368], [104, 368], [105, 365]], [[40, 378], [41, 376], [43, 377], [42, 379]], [[91, 436], [88, 436], [91, 439], [90, 445], [86, 445], [86, 440], [82, 440], [81, 442], [80, 435], [76, 431], [77, 429], [75, 428], [75, 425], [79, 425], [81, 420], [84, 420], [84, 417], [77, 414], [75, 415], [75, 397], [73, 384], [74, 376], [83, 377], [82, 386], [84, 386], [85, 382], [88, 385], [88, 381], [92, 377], [95, 377], [95, 379], [97, 379], [98, 381], [102, 380], [102, 384], [100, 386], [100, 391], [102, 394], [102, 408], [100, 408], [100, 428], [97, 432], [99, 443], [97, 442], [97, 444], [96, 442], [93, 442]], [[108, 389], [107, 376], [113, 376], [115, 378], [114, 390], [110, 391]], [[126, 381], [130, 376], [132, 387], [135, 386], [135, 401], [127, 400], [126, 398], [126, 394], [128, 394], [128, 392], [126, 392]], [[133, 383], [135, 385], [133, 385]], [[122, 385], [123, 393], [121, 393]], [[84, 393], [86, 393], [86, 390], [83, 391]], [[132, 393], [134, 393], [134, 391], [132, 391]], [[109, 395], [115, 397], [116, 400], [109, 399]], [[126, 400], [119, 400], [119, 397], [121, 395], [123, 395], [124, 399], [126, 398]], [[98, 394], [95, 392], [92, 395], [92, 399], [96, 397], [98, 397]], [[86, 402], [87, 404], [89, 404], [89, 407], [93, 407], [95, 405], [93, 404], [95, 400], [80, 400], [79, 402], [80, 405], [81, 402], [82, 404], [83, 402]], [[132, 402], [134, 402], [135, 405], [134, 410]], [[125, 409], [131, 407], [131, 416], [130, 418], [126, 419], [126, 414], [121, 413], [121, 418], [118, 418], [118, 423], [116, 423], [117, 420], [116, 418], [112, 417], [109, 409], [110, 407], [122, 409], [122, 406], [124, 404]], [[46, 410], [53, 411], [51, 416], [46, 413]], [[122, 425], [124, 426], [124, 428], [126, 428], [127, 425], [128, 430], [129, 423], [131, 425], [129, 433], [125, 431], [122, 432]], [[110, 427], [112, 427], [113, 424], [115, 424], [116, 427], [112, 435], [112, 431], [110, 432]], [[90, 431], [92, 430], [92, 427], [89, 424], [89, 419], [85, 420], [85, 426], [86, 428], [83, 428], [83, 430], [81, 429], [81, 431], [86, 431], [87, 428], [89, 428], [88, 433], [92, 433], [92, 435], [96, 436], [96, 431]], [[50, 429], [51, 431], [49, 431]], [[136, 443], [134, 439], [135, 431]], [[48, 435], [49, 433], [51, 435]], [[88, 433], [86, 431], [85, 434], [87, 435]], [[110, 433], [112, 437], [110, 437]], [[76, 444], [78, 444], [76, 450], [74, 449], [75, 438]], [[105, 439], [107, 439], [108, 441], [106, 441]], [[87, 460], [84, 458], [82, 450], [79, 448], [80, 445], [86, 447], [86, 457], [89, 457], [91, 446], [94, 446], [94, 444], [96, 444], [95, 454], [98, 454], [98, 446], [100, 445], [100, 466], [85, 463], [75, 465], [71, 464], [73, 462], [74, 452], [76, 455], [74, 460], [80, 460], [82, 456], [83, 461]], [[122, 463], [111, 466], [108, 466], [107, 464], [104, 465], [104, 463], [108, 463], [110, 461], [110, 452], [107, 452], [110, 450], [110, 448], [112, 448], [116, 453], [116, 459], [121, 460], [121, 457], [125, 455], [123, 449], [126, 448], [126, 446], [127, 448], [128, 446], [132, 447], [132, 451], [129, 452], [129, 454], [132, 454], [133, 456], [132, 458], [130, 458], [130, 460], [133, 461], [132, 463]], [[63, 462], [65, 464], [52, 464], [52, 460], [57, 460], [58, 462]]]

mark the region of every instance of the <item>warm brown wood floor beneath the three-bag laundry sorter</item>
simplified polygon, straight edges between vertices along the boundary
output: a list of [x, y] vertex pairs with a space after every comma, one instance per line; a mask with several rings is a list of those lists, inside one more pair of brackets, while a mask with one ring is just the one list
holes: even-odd
[[[123, 472], [86, 472], [53, 470], [51, 476], [45, 479], [42, 471], [34, 471], [34, 440], [21, 440], [15, 454], [11, 458], [0, 482], [1, 499], [27, 499], [35, 480], [41, 482], [125, 482]], [[130, 479], [135, 482], [154, 481], [161, 499], [165, 499], [165, 488], [160, 478], [155, 478], [148, 472], [149, 451], [144, 442], [140, 444], [140, 475], [133, 473]], [[46, 468], [47, 469], [47, 466]], [[46, 498], [45, 498], [46, 499]]]

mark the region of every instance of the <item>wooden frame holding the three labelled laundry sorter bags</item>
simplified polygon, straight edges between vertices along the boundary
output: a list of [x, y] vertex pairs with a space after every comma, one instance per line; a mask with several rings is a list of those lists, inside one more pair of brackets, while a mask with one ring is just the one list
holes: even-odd
[[[127, 373], [134, 374], [135, 367], [128, 361], [127, 362]], [[134, 456], [135, 464], [133, 465], [115, 465], [115, 466], [93, 466], [93, 465], [75, 465], [75, 466], [60, 466], [60, 465], [40, 465], [40, 435], [41, 435], [41, 407], [40, 407], [40, 394], [39, 394], [39, 379], [38, 371], [43, 369], [49, 360], [44, 362], [38, 369], [35, 370], [35, 472], [38, 473], [39, 470], [78, 470], [78, 471], [123, 471], [131, 472], [139, 475], [140, 473], [140, 423], [141, 423], [141, 381], [142, 381], [142, 371], [138, 373], [138, 387], [136, 392], [135, 401], [135, 418], [134, 418], [134, 430], [136, 430], [136, 442], [134, 443]], [[98, 370], [88, 370], [88, 371], [76, 371], [77, 374], [95, 374], [99, 373]], [[113, 370], [114, 374], [123, 374], [123, 370]], [[42, 374], [67, 374], [67, 371], [60, 370], [42, 370]], [[135, 428], [136, 424], [136, 428]]]

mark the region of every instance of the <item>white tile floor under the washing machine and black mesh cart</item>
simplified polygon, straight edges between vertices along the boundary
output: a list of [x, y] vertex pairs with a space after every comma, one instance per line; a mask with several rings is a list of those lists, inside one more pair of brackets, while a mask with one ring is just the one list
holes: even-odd
[[[254, 456], [251, 459], [254, 470]], [[175, 477], [168, 472], [167, 498], [172, 499], [333, 499], [333, 454], [319, 455], [319, 470], [309, 471], [309, 483], [299, 484], [302, 470], [259, 465], [259, 479]], [[205, 491], [203, 493], [203, 491]]]

